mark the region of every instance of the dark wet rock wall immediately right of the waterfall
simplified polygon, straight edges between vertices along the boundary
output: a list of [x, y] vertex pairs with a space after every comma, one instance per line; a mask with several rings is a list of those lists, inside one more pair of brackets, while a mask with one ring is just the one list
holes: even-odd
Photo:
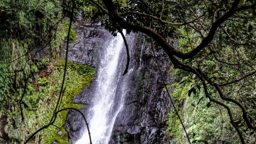
[[[143, 37], [138, 38], [134, 54], [140, 55], [140, 49], [144, 45], [141, 55], [143, 62], [135, 63], [138, 69], [132, 74], [131, 91], [126, 96], [122, 111], [115, 119], [111, 144], [120, 143], [118, 137], [124, 134], [126, 137], [136, 138], [126, 138], [126, 141], [121, 144], [162, 144], [164, 142], [166, 120], [171, 105], [164, 91], [164, 84], [151, 46], [149, 43], [142, 44], [142, 39]], [[165, 82], [167, 84], [175, 82], [174, 76], [170, 74], [169, 59], [165, 52], [156, 49], [155, 54]]]

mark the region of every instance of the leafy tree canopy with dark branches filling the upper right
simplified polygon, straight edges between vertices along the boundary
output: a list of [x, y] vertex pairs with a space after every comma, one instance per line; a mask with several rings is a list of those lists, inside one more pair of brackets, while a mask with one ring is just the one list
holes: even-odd
[[[193, 74], [204, 98], [229, 118], [242, 144], [256, 135], [255, 0], [84, 0], [102, 26], [145, 33], [175, 68]], [[102, 14], [99, 14], [102, 13]], [[175, 42], [175, 41], [179, 42]], [[196, 93], [191, 87], [189, 95]], [[232, 130], [232, 131], [233, 131]], [[197, 139], [198, 140], [198, 139]], [[253, 141], [252, 140], [252, 141]]]

